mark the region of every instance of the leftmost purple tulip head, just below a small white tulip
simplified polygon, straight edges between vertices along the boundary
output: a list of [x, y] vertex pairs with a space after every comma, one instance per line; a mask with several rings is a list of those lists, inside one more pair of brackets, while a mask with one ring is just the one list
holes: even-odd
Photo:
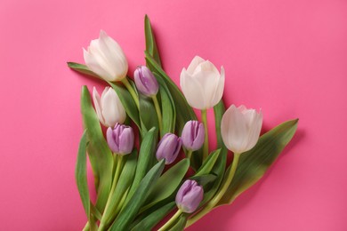
[[133, 128], [117, 123], [115, 128], [108, 128], [106, 139], [109, 148], [117, 155], [127, 155], [133, 151]]

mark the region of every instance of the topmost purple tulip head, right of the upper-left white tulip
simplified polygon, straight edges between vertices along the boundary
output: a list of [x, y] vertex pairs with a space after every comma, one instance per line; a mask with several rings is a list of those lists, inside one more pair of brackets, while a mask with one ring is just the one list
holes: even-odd
[[153, 96], [157, 94], [159, 85], [157, 79], [153, 76], [152, 72], [146, 66], [140, 66], [135, 69], [134, 80], [136, 88], [145, 96]]

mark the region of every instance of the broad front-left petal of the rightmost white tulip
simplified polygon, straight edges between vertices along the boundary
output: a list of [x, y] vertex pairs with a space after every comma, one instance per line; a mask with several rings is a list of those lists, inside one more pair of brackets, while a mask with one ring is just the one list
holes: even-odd
[[226, 147], [234, 153], [244, 152], [247, 140], [246, 120], [235, 105], [231, 105], [222, 116], [222, 139]]

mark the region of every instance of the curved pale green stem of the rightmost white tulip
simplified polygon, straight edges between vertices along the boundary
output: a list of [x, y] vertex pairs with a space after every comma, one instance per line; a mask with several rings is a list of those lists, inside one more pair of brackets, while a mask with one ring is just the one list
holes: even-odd
[[238, 168], [238, 159], [239, 159], [239, 154], [234, 154], [234, 159], [233, 159], [232, 164], [231, 164], [231, 169], [230, 169], [229, 175], [228, 175], [227, 179], [225, 180], [225, 182], [223, 182], [221, 190], [219, 190], [217, 195], [215, 195], [214, 198], [212, 198], [212, 200], [206, 204], [204, 209], [202, 209], [201, 211], [198, 211], [197, 214], [195, 214], [193, 217], [191, 217], [188, 220], [186, 227], [190, 227], [190, 225], [192, 225], [198, 219], [201, 219], [203, 216], [205, 216], [206, 213], [213, 210], [214, 206], [222, 199], [222, 196], [228, 190], [228, 187], [230, 186], [230, 183], [231, 183], [232, 179], [234, 178], [235, 171]]

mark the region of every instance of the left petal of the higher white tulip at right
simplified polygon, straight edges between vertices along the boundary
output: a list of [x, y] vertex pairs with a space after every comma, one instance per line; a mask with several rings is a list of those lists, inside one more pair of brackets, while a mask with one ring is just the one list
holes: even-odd
[[206, 109], [206, 95], [198, 80], [189, 75], [185, 68], [181, 72], [181, 88], [182, 92], [193, 108]]

